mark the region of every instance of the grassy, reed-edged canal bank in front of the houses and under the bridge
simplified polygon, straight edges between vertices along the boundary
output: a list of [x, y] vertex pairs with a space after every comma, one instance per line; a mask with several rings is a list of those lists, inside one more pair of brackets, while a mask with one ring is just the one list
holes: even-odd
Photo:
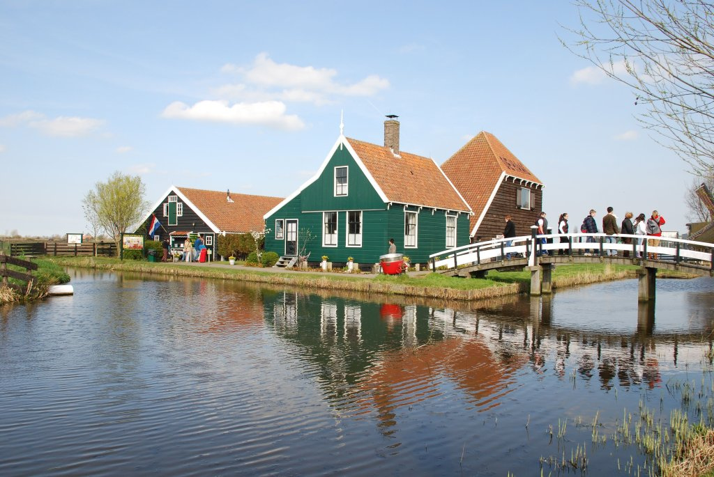
[[[126, 272], [151, 273], [183, 277], [230, 279], [245, 282], [289, 285], [306, 289], [341, 289], [353, 292], [400, 294], [436, 299], [473, 300], [527, 292], [531, 274], [522, 272], [489, 272], [486, 278], [444, 277], [436, 273], [420, 276], [378, 275], [364, 277], [347, 273], [313, 274], [306, 272], [266, 272], [260, 268], [245, 269], [211, 264], [124, 262], [108, 257], [48, 257], [56, 265]], [[225, 265], [225, 264], [221, 264]], [[573, 264], [557, 267], [553, 288], [572, 287], [610, 280], [634, 278], [638, 267], [630, 265]], [[673, 276], [673, 275], [669, 275]], [[680, 277], [685, 277], [679, 274]]]

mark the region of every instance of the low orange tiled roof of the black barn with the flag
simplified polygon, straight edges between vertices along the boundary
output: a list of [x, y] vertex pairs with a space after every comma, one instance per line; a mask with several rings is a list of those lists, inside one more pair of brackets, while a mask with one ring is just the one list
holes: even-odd
[[283, 199], [264, 195], [231, 193], [233, 202], [226, 200], [226, 193], [218, 190], [176, 188], [200, 210], [218, 229], [226, 232], [249, 232], [263, 230], [263, 214], [278, 205]]

